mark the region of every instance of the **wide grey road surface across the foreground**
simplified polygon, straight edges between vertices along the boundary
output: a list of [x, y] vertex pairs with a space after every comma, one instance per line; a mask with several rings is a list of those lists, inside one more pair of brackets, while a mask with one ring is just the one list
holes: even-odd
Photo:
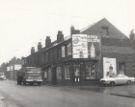
[[0, 81], [0, 95], [10, 107], [135, 107], [135, 99], [54, 86], [18, 86]]

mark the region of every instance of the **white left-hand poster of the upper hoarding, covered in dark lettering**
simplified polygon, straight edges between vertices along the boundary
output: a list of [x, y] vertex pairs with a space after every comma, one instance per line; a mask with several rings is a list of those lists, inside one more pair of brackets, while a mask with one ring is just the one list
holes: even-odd
[[73, 58], [88, 58], [88, 42], [86, 34], [72, 35]]

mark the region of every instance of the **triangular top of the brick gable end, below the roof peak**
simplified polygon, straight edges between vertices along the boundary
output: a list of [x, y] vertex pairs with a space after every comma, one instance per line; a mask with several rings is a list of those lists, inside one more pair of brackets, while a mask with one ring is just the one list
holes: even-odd
[[95, 34], [104, 36], [105, 27], [108, 27], [109, 34], [107, 36], [109, 36], [110, 38], [127, 39], [127, 36], [123, 34], [120, 30], [118, 30], [114, 25], [112, 25], [106, 18], [103, 18], [97, 23], [88, 26], [86, 29], [83, 29], [81, 33], [88, 35]]

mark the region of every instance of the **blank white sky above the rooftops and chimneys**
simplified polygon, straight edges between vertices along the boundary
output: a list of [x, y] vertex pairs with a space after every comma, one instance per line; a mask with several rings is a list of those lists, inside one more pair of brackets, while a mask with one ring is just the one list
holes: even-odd
[[30, 54], [58, 30], [83, 29], [102, 18], [127, 36], [135, 29], [135, 0], [0, 0], [0, 64]]

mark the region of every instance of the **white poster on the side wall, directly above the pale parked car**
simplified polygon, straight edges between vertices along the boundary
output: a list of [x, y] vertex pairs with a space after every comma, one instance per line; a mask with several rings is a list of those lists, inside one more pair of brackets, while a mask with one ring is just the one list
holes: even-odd
[[103, 57], [103, 77], [113, 77], [116, 74], [116, 58]]

